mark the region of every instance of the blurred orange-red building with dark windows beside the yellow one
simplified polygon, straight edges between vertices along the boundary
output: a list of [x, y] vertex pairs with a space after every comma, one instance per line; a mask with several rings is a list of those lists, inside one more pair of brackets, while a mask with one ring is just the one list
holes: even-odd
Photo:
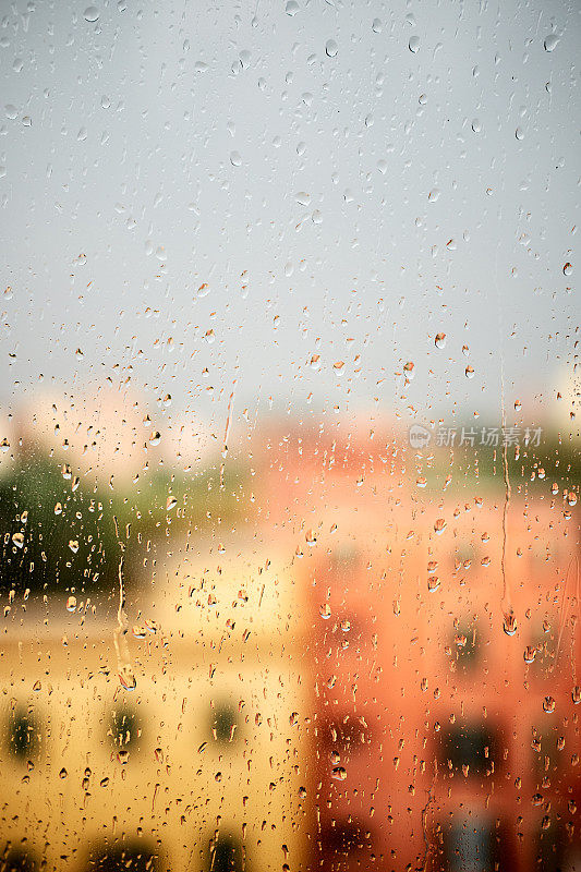
[[311, 602], [312, 868], [581, 869], [568, 504], [519, 495], [505, 540], [494, 482], [348, 443], [274, 439], [265, 484]]

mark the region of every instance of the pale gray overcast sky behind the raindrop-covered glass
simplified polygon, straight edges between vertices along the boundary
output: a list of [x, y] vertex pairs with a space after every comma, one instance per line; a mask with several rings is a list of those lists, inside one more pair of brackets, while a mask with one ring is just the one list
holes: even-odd
[[131, 375], [216, 421], [234, 380], [237, 413], [491, 415], [503, 362], [510, 407], [554, 403], [578, 3], [1, 11], [5, 405]]

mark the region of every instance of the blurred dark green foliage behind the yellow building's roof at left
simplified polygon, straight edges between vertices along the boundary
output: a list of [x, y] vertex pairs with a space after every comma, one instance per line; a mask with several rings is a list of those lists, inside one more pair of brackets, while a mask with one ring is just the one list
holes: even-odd
[[203, 530], [217, 517], [232, 517], [241, 481], [232, 464], [222, 483], [219, 469], [157, 470], [124, 493], [107, 494], [41, 450], [17, 455], [0, 477], [0, 591], [111, 591], [122, 549], [130, 586], [168, 529]]

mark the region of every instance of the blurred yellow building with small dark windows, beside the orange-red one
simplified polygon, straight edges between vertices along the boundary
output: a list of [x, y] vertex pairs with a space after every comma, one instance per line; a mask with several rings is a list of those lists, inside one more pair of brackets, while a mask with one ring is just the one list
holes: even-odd
[[291, 559], [190, 542], [118, 613], [114, 596], [5, 609], [5, 868], [304, 869]]

